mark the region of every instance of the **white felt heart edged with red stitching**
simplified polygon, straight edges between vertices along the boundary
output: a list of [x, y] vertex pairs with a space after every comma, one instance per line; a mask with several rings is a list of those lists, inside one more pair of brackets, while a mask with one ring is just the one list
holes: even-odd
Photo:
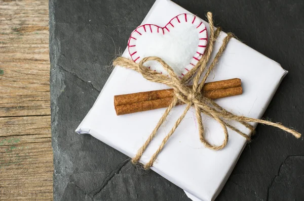
[[[150, 56], [160, 57], [182, 77], [201, 59], [206, 44], [207, 29], [203, 21], [184, 13], [172, 18], [164, 27], [154, 24], [137, 27], [129, 38], [128, 49], [134, 62]], [[145, 66], [168, 74], [156, 61], [148, 61]]]

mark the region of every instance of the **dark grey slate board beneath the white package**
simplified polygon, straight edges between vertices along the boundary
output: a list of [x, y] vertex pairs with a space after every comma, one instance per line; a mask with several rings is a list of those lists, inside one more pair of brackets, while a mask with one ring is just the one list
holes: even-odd
[[[174, 1], [289, 71], [264, 118], [304, 133], [304, 2]], [[50, 0], [54, 200], [189, 200], [183, 190], [90, 135], [74, 132], [154, 0]], [[258, 81], [258, 80], [257, 80]], [[268, 126], [241, 155], [217, 200], [304, 200], [304, 141]]]

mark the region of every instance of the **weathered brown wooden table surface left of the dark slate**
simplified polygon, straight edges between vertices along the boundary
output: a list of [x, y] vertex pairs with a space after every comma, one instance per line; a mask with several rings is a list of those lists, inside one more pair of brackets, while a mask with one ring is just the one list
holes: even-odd
[[53, 198], [48, 0], [0, 0], [0, 200]]

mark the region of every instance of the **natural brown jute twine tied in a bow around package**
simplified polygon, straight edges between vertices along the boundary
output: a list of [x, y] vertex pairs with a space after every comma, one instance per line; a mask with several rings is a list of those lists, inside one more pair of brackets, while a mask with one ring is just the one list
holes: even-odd
[[[150, 161], [146, 165], [144, 165], [144, 169], [149, 169], [151, 166], [153, 166], [153, 163], [155, 162], [158, 154], [161, 152], [161, 150], [163, 149], [163, 147], [166, 144], [166, 142], [168, 141], [168, 139], [174, 133], [175, 129], [178, 127], [178, 125], [180, 124], [182, 119], [185, 117], [187, 111], [192, 106], [195, 108], [195, 111], [196, 111], [196, 118], [197, 118], [198, 125], [199, 125], [200, 140], [203, 142], [203, 144], [207, 148], [210, 148], [213, 150], [219, 150], [226, 146], [226, 144], [228, 142], [228, 138], [229, 138], [227, 127], [236, 131], [237, 133], [239, 133], [240, 135], [245, 137], [247, 140], [250, 140], [251, 134], [254, 132], [254, 127], [251, 126], [250, 124], [248, 124], [247, 122], [254, 122], [254, 123], [274, 126], [274, 127], [280, 128], [286, 132], [291, 133], [296, 138], [299, 138], [301, 136], [300, 133], [298, 133], [295, 130], [292, 130], [290, 128], [287, 128], [287, 127], [281, 125], [280, 123], [273, 123], [271, 121], [265, 121], [265, 120], [261, 120], [261, 119], [254, 119], [254, 118], [250, 118], [250, 117], [234, 115], [234, 114], [226, 111], [219, 105], [217, 105], [210, 98], [207, 98], [200, 93], [201, 89], [203, 88], [203, 86], [205, 84], [207, 77], [209, 76], [210, 72], [217, 64], [218, 59], [224, 52], [224, 49], [227, 46], [227, 43], [229, 42], [229, 40], [232, 37], [234, 37], [234, 35], [232, 33], [227, 34], [227, 36], [223, 39], [222, 45], [221, 45], [218, 53], [216, 54], [214, 60], [212, 61], [210, 67], [208, 69], [206, 69], [207, 63], [210, 59], [210, 56], [211, 56], [211, 53], [213, 50], [214, 41], [217, 39], [217, 37], [220, 33], [219, 27], [214, 32], [212, 14], [210, 12], [207, 13], [207, 18], [208, 18], [208, 22], [209, 22], [209, 26], [210, 26], [210, 41], [207, 44], [205, 53], [202, 56], [202, 58], [200, 59], [200, 61], [182, 79], [179, 79], [178, 76], [174, 73], [173, 69], [159, 57], [143, 58], [139, 62], [139, 64], [133, 62], [130, 59], [123, 58], [123, 57], [119, 57], [115, 61], [113, 61], [114, 66], [121, 66], [121, 67], [135, 70], [135, 71], [141, 73], [145, 79], [147, 79], [151, 82], [166, 84], [166, 85], [172, 87], [174, 90], [174, 96], [173, 96], [171, 104], [166, 109], [165, 113], [159, 120], [158, 124], [156, 125], [153, 132], [150, 134], [150, 136], [146, 140], [146, 142], [139, 148], [137, 154], [132, 159], [132, 163], [137, 163], [139, 161], [139, 159], [141, 158], [142, 154], [144, 153], [146, 147], [148, 146], [150, 141], [155, 137], [158, 129], [163, 124], [163, 122], [167, 118], [169, 112], [177, 104], [177, 102], [182, 102], [182, 103], [186, 104], [186, 108], [185, 108], [184, 112], [181, 114], [181, 116], [175, 122], [175, 124], [174, 124], [173, 128], [170, 130], [170, 132], [163, 139], [161, 145], [157, 149], [156, 153], [151, 157]], [[143, 66], [143, 64], [147, 61], [159, 62], [163, 66], [163, 68], [168, 72], [169, 76], [157, 73], [157, 72], [152, 71], [152, 70], [146, 68], [145, 66]], [[200, 77], [202, 76], [202, 74], [205, 71], [206, 71], [206, 74], [204, 75], [203, 80], [199, 83]], [[187, 86], [188, 83], [191, 81], [193, 81], [192, 88]], [[224, 140], [221, 145], [210, 144], [205, 139], [204, 126], [203, 126], [201, 113], [208, 115], [209, 117], [216, 120], [223, 128]], [[237, 121], [237, 122], [243, 124], [246, 128], [248, 128], [251, 131], [251, 134], [246, 135], [245, 133], [238, 130], [236, 127], [232, 126], [230, 123], [227, 123], [227, 121], [230, 121], [230, 120], [234, 120], [234, 121]]]

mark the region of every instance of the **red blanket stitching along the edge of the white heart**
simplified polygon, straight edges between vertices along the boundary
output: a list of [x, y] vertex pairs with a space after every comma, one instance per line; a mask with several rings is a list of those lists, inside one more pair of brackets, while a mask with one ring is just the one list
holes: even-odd
[[[199, 27], [201, 27], [202, 26], [202, 24], [203, 24], [203, 22], [201, 21], [201, 19], [200, 18], [197, 18], [195, 15], [192, 15], [192, 14], [185, 14], [185, 13], [183, 13], [183, 14], [180, 14], [180, 15], [184, 15], [184, 18], [185, 18], [185, 22], [187, 22], [187, 23], [192, 23], [192, 24], [198, 24], [199, 22], [199, 25], [196, 27], [196, 28], [199, 28]], [[137, 51], [136, 51], [136, 49], [132, 49], [132, 51], [131, 51], [131, 48], [132, 47], [135, 47], [136, 46], [136, 41], [134, 41], [134, 40], [137, 40], [137, 38], [138, 37], [133, 37], [133, 33], [138, 33], [139, 34], [139, 36], [141, 36], [142, 35], [142, 31], [144, 31], [144, 32], [146, 32], [146, 28], [145, 28], [145, 26], [149, 26], [149, 28], [150, 28], [150, 32], [151, 33], [153, 33], [153, 28], [152, 28], [152, 26], [154, 26], [154, 27], [157, 27], [157, 33], [160, 33], [160, 31], [159, 31], [159, 29], [161, 28], [162, 30], [163, 30], [163, 35], [165, 35], [165, 30], [167, 30], [168, 32], [170, 32], [170, 30], [169, 30], [169, 28], [168, 28], [168, 25], [171, 25], [172, 26], [172, 28], [174, 28], [174, 23], [181, 23], [180, 22], [180, 20], [179, 20], [179, 16], [180, 15], [177, 15], [177, 16], [175, 16], [174, 18], [172, 18], [167, 24], [166, 24], [166, 26], [164, 26], [164, 27], [160, 27], [160, 26], [158, 26], [158, 25], [155, 25], [155, 24], [144, 24], [144, 25], [141, 25], [141, 26], [139, 26], [139, 27], [137, 27], [132, 33], [131, 33], [131, 36], [130, 36], [130, 38], [129, 38], [129, 40], [128, 40], [128, 49], [129, 49], [129, 54], [130, 54], [130, 56], [131, 56], [131, 58], [133, 59], [133, 56], [136, 56], [136, 54], [137, 54]], [[192, 19], [192, 18], [189, 18], [190, 16], [192, 16], [193, 17], [193, 20], [192, 21], [189, 21], [188, 19]], [[173, 21], [174, 19], [176, 18], [176, 20], [177, 20], [177, 22], [176, 21]], [[204, 25], [204, 24], [203, 24]], [[204, 40], [206, 40], [205, 42], [203, 42], [203, 44], [207, 44], [207, 29], [206, 29], [206, 26], [204, 26], [205, 28], [202, 30], [202, 31], [200, 31], [199, 32], [199, 34], [204, 34], [204, 36], [205, 36], [205, 34], [206, 34], [206, 36], [204, 37], [200, 37], [199, 38], [199, 40], [200, 41], [204, 41]], [[140, 31], [140, 29], [141, 29], [141, 31]], [[206, 33], [203, 33], [204, 31], [206, 31]], [[137, 35], [138, 36], [138, 35]], [[134, 39], [133, 41], [132, 41], [132, 39]], [[204, 54], [204, 51], [205, 51], [205, 47], [206, 47], [206, 45], [203, 45], [201, 42], [199, 43], [199, 45], [198, 45], [198, 49], [197, 49], [197, 52], [196, 52], [196, 54], [198, 54], [199, 56], [198, 57], [193, 57], [193, 59], [191, 60], [191, 62], [189, 63], [189, 65], [191, 65], [191, 66], [195, 66], [195, 64], [200, 60], [200, 58], [201, 58], [201, 56]], [[201, 48], [201, 47], [203, 47], [203, 48]], [[137, 55], [138, 56], [138, 55]], [[136, 57], [136, 59], [134, 60], [133, 59], [133, 61], [134, 62], [136, 62], [138, 59], [140, 59], [140, 56], [138, 56], [138, 57]], [[150, 67], [148, 67], [149, 69], [150, 69]], [[156, 71], [156, 70], [155, 70]], [[181, 75], [182, 76], [184, 76], [184, 74], [187, 72], [187, 71], [189, 71], [189, 68], [188, 68], [188, 66], [186, 66], [186, 67], [184, 67], [184, 71], [183, 72], [181, 72]], [[160, 72], [161, 74], [163, 73], [163, 72]], [[179, 77], [179, 78], [181, 78], [181, 77]]]

